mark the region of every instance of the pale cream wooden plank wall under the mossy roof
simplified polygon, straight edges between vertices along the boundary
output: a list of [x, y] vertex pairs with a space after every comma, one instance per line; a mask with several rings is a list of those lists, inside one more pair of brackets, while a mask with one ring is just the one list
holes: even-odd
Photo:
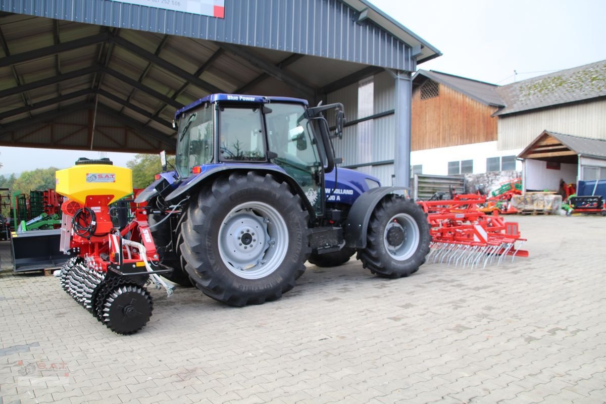
[[498, 148], [525, 148], [544, 130], [606, 139], [606, 99], [499, 116]]

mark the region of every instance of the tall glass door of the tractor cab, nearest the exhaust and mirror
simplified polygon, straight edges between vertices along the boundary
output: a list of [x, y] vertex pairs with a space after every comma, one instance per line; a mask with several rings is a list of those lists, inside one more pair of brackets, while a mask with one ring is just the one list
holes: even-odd
[[278, 155], [271, 162], [298, 182], [310, 204], [321, 214], [322, 163], [305, 108], [300, 104], [278, 103], [268, 107], [271, 108], [271, 113], [265, 114], [268, 150]]

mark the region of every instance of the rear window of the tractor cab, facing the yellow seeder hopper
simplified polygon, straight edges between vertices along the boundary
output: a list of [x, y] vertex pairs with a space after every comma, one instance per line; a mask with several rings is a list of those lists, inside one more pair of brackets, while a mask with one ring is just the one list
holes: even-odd
[[213, 161], [213, 109], [191, 111], [179, 120], [175, 164], [181, 177], [190, 176], [196, 165]]

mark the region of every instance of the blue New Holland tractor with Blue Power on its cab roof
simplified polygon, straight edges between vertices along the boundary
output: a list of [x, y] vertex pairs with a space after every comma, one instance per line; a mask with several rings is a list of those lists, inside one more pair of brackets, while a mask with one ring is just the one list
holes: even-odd
[[[335, 114], [331, 130], [324, 113]], [[175, 167], [139, 194], [168, 279], [233, 306], [275, 300], [305, 261], [358, 253], [378, 276], [415, 273], [429, 224], [401, 187], [337, 168], [342, 104], [211, 94], [176, 111]]]

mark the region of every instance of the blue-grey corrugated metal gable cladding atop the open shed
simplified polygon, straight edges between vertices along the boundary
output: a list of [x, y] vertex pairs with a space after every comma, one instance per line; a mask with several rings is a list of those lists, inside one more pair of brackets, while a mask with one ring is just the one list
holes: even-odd
[[421, 60], [441, 55], [360, 0], [227, 0], [224, 19], [107, 0], [2, 0], [0, 10], [407, 71], [416, 70], [413, 48]]

